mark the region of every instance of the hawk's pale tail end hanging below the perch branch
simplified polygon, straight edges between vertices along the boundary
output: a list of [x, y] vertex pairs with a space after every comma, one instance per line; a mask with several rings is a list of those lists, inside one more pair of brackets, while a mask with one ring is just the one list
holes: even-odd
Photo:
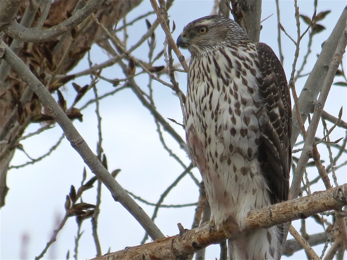
[[257, 230], [237, 240], [228, 240], [229, 259], [280, 259], [282, 229], [274, 226]]

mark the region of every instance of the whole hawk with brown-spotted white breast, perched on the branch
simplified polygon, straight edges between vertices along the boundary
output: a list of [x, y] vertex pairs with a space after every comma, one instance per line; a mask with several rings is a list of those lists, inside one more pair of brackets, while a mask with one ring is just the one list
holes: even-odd
[[[223, 16], [189, 23], [177, 39], [192, 57], [185, 129], [189, 155], [205, 183], [215, 227], [240, 229], [247, 212], [288, 199], [291, 106], [283, 68]], [[230, 259], [279, 259], [282, 227], [229, 241]]]

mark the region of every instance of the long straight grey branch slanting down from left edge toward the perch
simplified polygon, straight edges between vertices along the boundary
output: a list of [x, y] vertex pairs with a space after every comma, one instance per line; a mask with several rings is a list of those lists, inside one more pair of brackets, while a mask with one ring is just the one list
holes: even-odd
[[0, 58], [8, 62], [12, 66], [13, 70], [17, 73], [18, 77], [22, 77], [26, 84], [28, 84], [28, 86], [34, 90], [43, 105], [64, 131], [71, 146], [73, 146], [74, 149], [81, 155], [90, 170], [109, 189], [113, 199], [115, 199], [115, 201], [119, 201], [121, 205], [133, 215], [133, 217], [139, 222], [139, 224], [142, 225], [153, 240], [163, 237], [164, 235], [161, 233], [159, 228], [156, 227], [152, 219], [119, 185], [119, 183], [101, 164], [98, 158], [96, 158], [93, 151], [87, 145], [82, 136], [79, 135], [72, 122], [67, 118], [64, 111], [62, 111], [45, 86], [42, 85], [42, 83], [24, 64], [24, 62], [18, 58], [4, 42], [0, 43]]

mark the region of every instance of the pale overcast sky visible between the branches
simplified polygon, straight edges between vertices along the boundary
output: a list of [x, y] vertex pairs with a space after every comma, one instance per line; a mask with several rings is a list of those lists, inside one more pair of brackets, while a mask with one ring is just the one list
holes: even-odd
[[[272, 15], [262, 23], [261, 42], [272, 47], [278, 55], [277, 45], [277, 18], [275, 1], [263, 1], [262, 19]], [[298, 1], [301, 14], [312, 16], [313, 1]], [[320, 53], [321, 44], [329, 37], [333, 27], [335, 26], [346, 1], [319, 1], [318, 11], [331, 10], [331, 13], [324, 19], [321, 24], [326, 29], [314, 36], [312, 54], [308, 59], [304, 72], [311, 71], [316, 54]], [[169, 10], [171, 20], [175, 21], [176, 31], [173, 37], [176, 39], [181, 33], [183, 27], [190, 21], [202, 16], [210, 15], [213, 1], [175, 1]], [[145, 14], [152, 10], [150, 2], [144, 1], [134, 9], [127, 17], [130, 21], [138, 15]], [[296, 39], [296, 27], [294, 18], [294, 1], [280, 1], [281, 23], [286, 31]], [[153, 22], [156, 16], [149, 16], [149, 20]], [[301, 20], [302, 21], [302, 20]], [[119, 23], [121, 24], [121, 23]], [[302, 31], [306, 28], [306, 24], [302, 23]], [[138, 41], [138, 39], [147, 31], [143, 20], [135, 23], [128, 29], [128, 48]], [[121, 35], [119, 35], [121, 37]], [[156, 53], [162, 49], [164, 34], [160, 26], [156, 30]], [[294, 44], [282, 34], [283, 54], [285, 57], [283, 67], [289, 79], [291, 72], [291, 64], [294, 58]], [[307, 36], [302, 42], [303, 53], [306, 51]], [[147, 60], [147, 44], [133, 52], [137, 58]], [[183, 50], [186, 58], [189, 53]], [[301, 64], [302, 56], [299, 58], [298, 64]], [[108, 59], [97, 46], [93, 46], [91, 57], [93, 63], [101, 63]], [[176, 58], [176, 57], [175, 57]], [[177, 59], [175, 59], [177, 62]], [[345, 58], [344, 58], [345, 61]], [[163, 59], [160, 59], [155, 65], [164, 65]], [[84, 70], [88, 67], [86, 57], [74, 69], [74, 72]], [[139, 72], [137, 68], [137, 72]], [[71, 72], [72, 73], [72, 72]], [[104, 69], [102, 75], [108, 78], [124, 78], [124, 75], [117, 69], [117, 65]], [[162, 79], [169, 81], [167, 76]], [[176, 79], [180, 88], [186, 92], [186, 74], [176, 73]], [[148, 76], [138, 76], [136, 82], [146, 89], [148, 84]], [[298, 80], [296, 84], [298, 94], [305, 83], [306, 78]], [[336, 80], [342, 81], [342, 80]], [[89, 77], [81, 77], [75, 80], [81, 86], [90, 83]], [[113, 87], [100, 81], [98, 83], [99, 95], [109, 92]], [[73, 102], [76, 93], [71, 90], [71, 83], [67, 84], [64, 96], [67, 100], [68, 107]], [[181, 109], [178, 98], [172, 94], [172, 90], [160, 83], [153, 83], [154, 97], [158, 111], [164, 118], [173, 118], [177, 122], [182, 122]], [[93, 97], [91, 91], [83, 97], [82, 101], [76, 107], [81, 107]], [[292, 102], [294, 103], [294, 102]], [[343, 119], [346, 121], [346, 88], [332, 86], [331, 93], [324, 110], [337, 116], [340, 107], [344, 107]], [[153, 122], [152, 115], [144, 109], [138, 99], [134, 96], [130, 89], [122, 90], [114, 96], [108, 97], [100, 102], [100, 110], [102, 115], [103, 130], [103, 148], [108, 159], [109, 170], [113, 171], [117, 168], [121, 172], [117, 176], [117, 181], [127, 190], [132, 191], [137, 196], [148, 201], [156, 203], [162, 192], [177, 178], [183, 171], [182, 167], [176, 161], [168, 156], [160, 144], [158, 133]], [[83, 123], [74, 121], [74, 125], [87, 141], [92, 150], [96, 150], [97, 128], [95, 105], [89, 106], [83, 113]], [[174, 123], [170, 123], [172, 127], [177, 129], [184, 138], [184, 130]], [[307, 123], [306, 123], [307, 126]], [[38, 124], [32, 124], [26, 133], [34, 132]], [[54, 145], [61, 136], [59, 126], [45, 131], [42, 134], [26, 139], [21, 144], [27, 153], [37, 158]], [[322, 137], [322, 127], [319, 127], [318, 136]], [[341, 129], [334, 130], [331, 139], [336, 140], [345, 136], [345, 131]], [[189, 164], [184, 151], [179, 149], [176, 141], [172, 140], [166, 133], [167, 145], [179, 155], [179, 157]], [[325, 165], [328, 165], [328, 157], [326, 148], [322, 147], [322, 156], [325, 156]], [[325, 154], [324, 154], [325, 153]], [[334, 150], [336, 154], [336, 150]], [[299, 154], [295, 154], [299, 157]], [[342, 156], [342, 161], [346, 156]], [[340, 161], [341, 161], [340, 160]], [[28, 161], [23, 152], [17, 150], [11, 165], [19, 165]], [[60, 147], [52, 153], [51, 156], [34, 165], [25, 168], [12, 169], [8, 173], [7, 185], [10, 188], [6, 197], [6, 206], [1, 209], [1, 259], [18, 259], [20, 257], [21, 239], [23, 234], [28, 236], [27, 257], [33, 259], [39, 255], [44, 248], [46, 242], [49, 241], [52, 230], [55, 228], [55, 219], [64, 216], [65, 197], [70, 190], [70, 185], [75, 185], [76, 189], [82, 180], [83, 160], [71, 148], [69, 142], [64, 139]], [[201, 180], [200, 173], [194, 169], [195, 176]], [[309, 177], [313, 178], [317, 175], [316, 168], [310, 168]], [[339, 184], [346, 182], [346, 166], [341, 167], [337, 171]], [[93, 174], [87, 169], [87, 180]], [[331, 176], [331, 174], [329, 175]], [[324, 190], [324, 185], [318, 183], [313, 185], [312, 191]], [[174, 188], [168, 197], [164, 200], [164, 204], [180, 204], [193, 203], [198, 198], [198, 187], [194, 184], [189, 176], [184, 177]], [[83, 194], [84, 202], [95, 204], [95, 189], [86, 191]], [[153, 207], [138, 202], [141, 207], [150, 216], [153, 213]], [[155, 223], [161, 229], [164, 235], [175, 235], [178, 233], [177, 223], [181, 223], [185, 228], [192, 225], [195, 207], [180, 209], [160, 209], [158, 218]], [[90, 220], [85, 220], [82, 230], [85, 230], [79, 247], [79, 259], [92, 258], [95, 256], [95, 246], [91, 236]], [[299, 229], [300, 222], [295, 222], [294, 226]], [[77, 225], [75, 218], [71, 217], [58, 235], [57, 242], [52, 249], [45, 254], [44, 259], [65, 259], [67, 250], [70, 250], [70, 259], [73, 256], [74, 236], [76, 235]], [[99, 238], [101, 241], [102, 253], [107, 253], [108, 248], [111, 251], [124, 249], [126, 246], [138, 245], [144, 236], [144, 231], [137, 221], [124, 209], [119, 203], [113, 201], [110, 193], [105, 187], [102, 190], [101, 213], [99, 217]], [[309, 234], [323, 232], [322, 228], [313, 221], [307, 224]], [[291, 237], [289, 236], [289, 239]], [[319, 248], [319, 249], [317, 249]], [[314, 247], [320, 254], [322, 246]], [[208, 248], [206, 258], [219, 259], [219, 245], [213, 245]], [[306, 259], [303, 251], [297, 252], [292, 257], [283, 257], [282, 259]]]

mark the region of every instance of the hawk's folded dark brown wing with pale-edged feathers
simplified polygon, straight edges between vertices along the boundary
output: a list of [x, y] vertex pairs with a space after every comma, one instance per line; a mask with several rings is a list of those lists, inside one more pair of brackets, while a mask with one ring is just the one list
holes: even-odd
[[276, 54], [264, 43], [257, 43], [257, 52], [262, 73], [262, 77], [257, 78], [259, 92], [268, 116], [261, 125], [259, 160], [274, 204], [288, 199], [291, 163], [290, 94], [285, 72]]

